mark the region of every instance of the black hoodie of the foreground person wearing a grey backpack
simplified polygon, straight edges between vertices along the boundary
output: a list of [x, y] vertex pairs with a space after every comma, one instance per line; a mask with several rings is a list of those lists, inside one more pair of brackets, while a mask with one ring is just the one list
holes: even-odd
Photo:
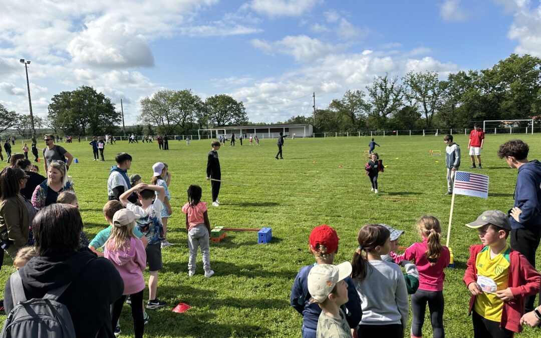
[[[70, 254], [34, 257], [18, 272], [27, 299], [41, 298], [48, 290], [71, 282], [58, 301], [68, 308], [78, 338], [115, 336], [110, 306], [122, 295], [124, 283], [107, 259], [83, 248]], [[13, 309], [9, 279], [4, 297], [7, 314]]]

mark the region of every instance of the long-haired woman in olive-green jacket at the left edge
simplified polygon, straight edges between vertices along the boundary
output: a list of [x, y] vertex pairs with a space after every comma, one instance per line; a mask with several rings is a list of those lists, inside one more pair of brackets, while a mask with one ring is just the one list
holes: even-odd
[[[5, 167], [0, 173], [0, 240], [12, 259], [27, 244], [30, 216], [34, 216], [34, 213], [29, 214], [20, 193], [27, 181], [28, 176], [19, 168]], [[4, 258], [4, 250], [0, 250], [0, 262]]]

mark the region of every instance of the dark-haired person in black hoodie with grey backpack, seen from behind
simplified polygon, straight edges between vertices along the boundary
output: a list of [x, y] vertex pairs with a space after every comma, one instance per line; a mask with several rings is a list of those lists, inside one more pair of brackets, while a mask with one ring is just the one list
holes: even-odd
[[[27, 299], [42, 298], [69, 284], [58, 302], [68, 309], [78, 338], [114, 337], [110, 306], [124, 291], [113, 263], [88, 248], [78, 249], [83, 221], [76, 207], [52, 204], [32, 222], [37, 257], [16, 273]], [[4, 288], [6, 313], [14, 307], [10, 280]]]

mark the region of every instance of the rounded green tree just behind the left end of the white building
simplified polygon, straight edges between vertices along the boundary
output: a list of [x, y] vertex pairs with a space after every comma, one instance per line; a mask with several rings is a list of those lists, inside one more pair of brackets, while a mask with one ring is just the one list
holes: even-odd
[[242, 102], [237, 102], [229, 95], [220, 94], [207, 98], [205, 105], [208, 111], [208, 121], [217, 126], [227, 124], [246, 124], [248, 115]]

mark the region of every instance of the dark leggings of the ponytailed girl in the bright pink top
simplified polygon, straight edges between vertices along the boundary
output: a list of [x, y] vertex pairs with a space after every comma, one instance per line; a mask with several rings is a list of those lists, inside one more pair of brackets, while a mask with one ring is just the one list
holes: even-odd
[[411, 295], [412, 336], [423, 336], [421, 330], [425, 322], [426, 303], [428, 303], [428, 310], [430, 310], [430, 322], [434, 331], [434, 338], [445, 337], [443, 329], [443, 291], [426, 291], [420, 289]]

